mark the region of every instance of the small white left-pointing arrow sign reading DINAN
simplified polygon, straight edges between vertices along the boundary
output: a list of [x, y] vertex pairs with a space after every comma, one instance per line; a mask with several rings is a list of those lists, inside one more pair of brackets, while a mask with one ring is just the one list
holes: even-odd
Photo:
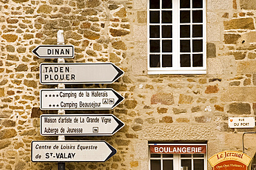
[[39, 58], [73, 58], [75, 56], [72, 45], [40, 45], [32, 50]]

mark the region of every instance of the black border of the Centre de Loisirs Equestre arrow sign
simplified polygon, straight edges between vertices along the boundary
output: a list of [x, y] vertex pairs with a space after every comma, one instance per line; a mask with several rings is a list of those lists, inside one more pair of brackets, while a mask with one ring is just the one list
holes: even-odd
[[31, 161], [32, 162], [62, 162], [62, 160], [59, 161], [35, 161], [33, 160], [33, 142], [104, 142], [105, 144], [107, 144], [107, 146], [109, 147], [109, 149], [111, 149], [111, 153], [109, 154], [109, 156], [103, 160], [103, 161], [68, 161], [65, 160], [65, 162], [106, 162], [107, 160], [109, 160], [109, 158], [111, 158], [113, 155], [116, 154], [116, 149], [113, 148], [108, 142], [104, 141], [104, 140], [36, 140], [36, 141], [32, 141], [31, 142]]

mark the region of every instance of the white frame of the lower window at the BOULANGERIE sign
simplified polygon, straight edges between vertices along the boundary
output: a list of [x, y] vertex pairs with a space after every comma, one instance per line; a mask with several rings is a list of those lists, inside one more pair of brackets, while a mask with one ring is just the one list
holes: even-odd
[[[156, 145], [156, 144], [149, 144], [149, 146], [150, 145]], [[158, 145], [158, 144], [157, 144]], [[201, 159], [203, 159], [204, 161], [204, 164], [203, 164], [203, 169], [204, 170], [207, 170], [207, 144], [159, 144], [159, 145], [205, 145], [205, 147], [206, 147], [206, 153], [204, 154], [204, 157], [203, 158], [193, 158], [193, 156], [192, 156], [192, 158], [181, 158], [181, 154], [173, 154], [174, 155], [174, 157], [173, 158], [163, 158], [163, 153], [161, 153], [161, 154], [159, 154], [159, 155], [161, 155], [161, 158], [151, 158], [151, 156], [150, 156], [150, 149], [149, 149], [149, 170], [152, 170], [152, 169], [150, 169], [150, 160], [161, 160], [161, 170], [163, 170], [163, 160], [173, 160], [173, 164], [174, 164], [174, 170], [180, 170], [181, 169], [181, 160], [192, 160], [192, 162], [191, 162], [191, 164], [193, 165], [193, 163], [194, 163], [194, 160], [201, 160]], [[157, 154], [157, 153], [156, 153]], [[202, 153], [203, 154], [203, 153]], [[193, 155], [193, 153], [191, 154], [191, 155]], [[196, 169], [194, 169], [194, 167], [192, 166], [192, 170], [196, 170]]]

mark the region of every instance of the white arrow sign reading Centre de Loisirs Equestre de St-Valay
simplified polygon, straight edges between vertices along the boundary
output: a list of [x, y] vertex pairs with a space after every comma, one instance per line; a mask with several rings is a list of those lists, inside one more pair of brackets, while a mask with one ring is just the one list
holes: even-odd
[[33, 162], [105, 162], [116, 154], [105, 141], [33, 141]]

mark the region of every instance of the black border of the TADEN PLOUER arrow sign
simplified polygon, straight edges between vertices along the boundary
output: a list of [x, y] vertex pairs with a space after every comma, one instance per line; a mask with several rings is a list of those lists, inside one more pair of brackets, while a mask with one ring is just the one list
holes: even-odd
[[[84, 81], [84, 82], [47, 82], [44, 81], [42, 79], [42, 65], [55, 65], [55, 66], [62, 66], [62, 65], [108, 65], [111, 64], [113, 66], [113, 68], [115, 68], [118, 73], [116, 74], [116, 76], [113, 76], [113, 79], [111, 79], [111, 81], [109, 82], [89, 82], [89, 81]], [[120, 68], [118, 68], [118, 66], [116, 66], [113, 63], [42, 63], [40, 64], [39, 67], [39, 82], [40, 84], [111, 84], [113, 82], [115, 82], [117, 79], [119, 79], [122, 75], [124, 74], [124, 71], [121, 70]]]

